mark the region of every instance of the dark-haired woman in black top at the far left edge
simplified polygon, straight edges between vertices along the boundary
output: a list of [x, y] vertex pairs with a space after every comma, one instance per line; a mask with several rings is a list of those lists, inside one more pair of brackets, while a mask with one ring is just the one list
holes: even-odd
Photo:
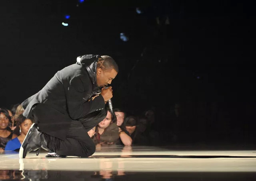
[[10, 129], [11, 117], [7, 110], [0, 109], [0, 150], [4, 150], [8, 141], [17, 137]]

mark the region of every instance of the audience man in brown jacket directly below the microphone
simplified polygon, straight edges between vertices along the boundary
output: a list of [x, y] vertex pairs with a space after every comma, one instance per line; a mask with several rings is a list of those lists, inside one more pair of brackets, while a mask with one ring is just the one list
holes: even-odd
[[118, 142], [118, 126], [113, 120], [114, 116], [108, 111], [106, 118], [96, 126], [95, 144], [116, 144]]

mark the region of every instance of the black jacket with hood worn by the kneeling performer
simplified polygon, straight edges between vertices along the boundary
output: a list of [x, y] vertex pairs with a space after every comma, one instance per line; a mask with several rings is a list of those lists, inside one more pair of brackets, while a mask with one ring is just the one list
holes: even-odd
[[96, 93], [100, 93], [96, 83], [99, 57], [78, 57], [76, 64], [58, 71], [41, 91], [22, 102], [25, 109], [23, 115], [33, 119], [36, 113], [34, 119], [40, 130], [64, 140], [72, 120], [105, 108], [101, 95], [90, 100]]

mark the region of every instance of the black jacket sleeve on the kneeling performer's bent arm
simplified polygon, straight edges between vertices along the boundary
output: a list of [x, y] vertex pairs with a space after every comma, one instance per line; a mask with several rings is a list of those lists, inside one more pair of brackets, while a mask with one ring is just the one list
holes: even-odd
[[83, 116], [105, 108], [104, 98], [100, 94], [94, 100], [87, 101], [91, 94], [90, 78], [78, 75], [70, 81], [66, 92], [66, 101], [69, 116], [76, 120]]

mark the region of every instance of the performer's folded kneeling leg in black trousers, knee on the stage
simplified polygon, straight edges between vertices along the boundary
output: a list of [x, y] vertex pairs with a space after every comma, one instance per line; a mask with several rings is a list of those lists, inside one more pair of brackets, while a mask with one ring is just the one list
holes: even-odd
[[80, 121], [71, 122], [66, 140], [45, 137], [48, 147], [58, 155], [88, 157], [95, 152], [95, 144]]

